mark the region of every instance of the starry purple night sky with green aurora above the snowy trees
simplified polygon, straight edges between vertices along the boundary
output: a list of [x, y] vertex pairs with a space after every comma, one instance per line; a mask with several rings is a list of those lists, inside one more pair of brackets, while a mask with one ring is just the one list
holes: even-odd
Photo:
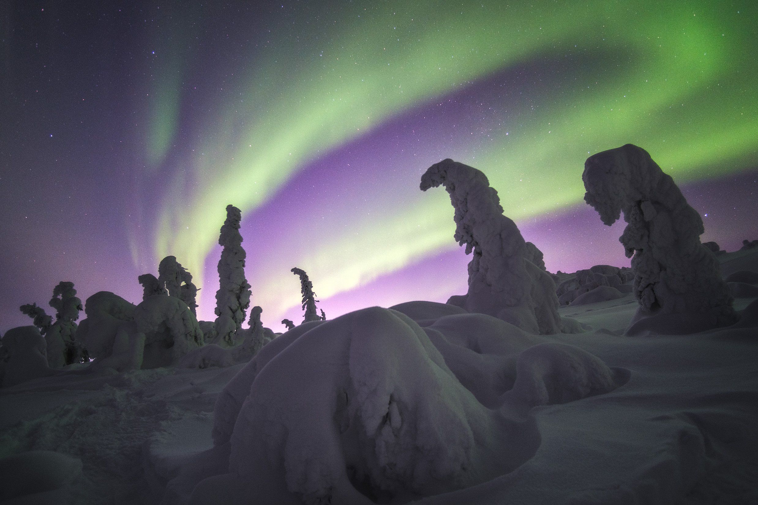
[[[52, 287], [141, 300], [177, 256], [212, 320], [231, 203], [252, 304], [302, 320], [465, 293], [421, 174], [487, 174], [551, 271], [628, 265], [584, 159], [634, 143], [703, 216], [758, 238], [758, 8], [744, 2], [0, 3], [0, 331]], [[48, 309], [48, 312], [54, 312]]]

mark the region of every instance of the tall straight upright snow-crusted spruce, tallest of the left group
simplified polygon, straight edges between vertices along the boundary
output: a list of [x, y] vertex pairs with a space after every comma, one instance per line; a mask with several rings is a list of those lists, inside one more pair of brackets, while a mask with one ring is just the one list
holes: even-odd
[[219, 287], [216, 292], [215, 343], [232, 347], [234, 334], [242, 328], [245, 312], [250, 305], [250, 284], [245, 278], [245, 249], [242, 247], [240, 221], [242, 212], [234, 205], [227, 205], [227, 219], [221, 227], [218, 243], [221, 259], [218, 261]]

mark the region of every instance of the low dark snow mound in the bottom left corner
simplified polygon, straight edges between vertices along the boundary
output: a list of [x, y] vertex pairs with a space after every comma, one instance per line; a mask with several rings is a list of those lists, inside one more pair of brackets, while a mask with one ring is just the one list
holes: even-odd
[[50, 496], [49, 491], [64, 488], [81, 472], [81, 460], [52, 450], [30, 450], [8, 456], [0, 460], [0, 501], [56, 503], [59, 495]]

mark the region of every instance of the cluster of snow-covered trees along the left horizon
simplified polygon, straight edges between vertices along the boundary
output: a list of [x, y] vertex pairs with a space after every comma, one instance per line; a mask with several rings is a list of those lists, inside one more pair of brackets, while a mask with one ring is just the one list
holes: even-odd
[[[262, 325], [260, 306], [252, 307], [249, 328], [243, 328], [252, 292], [245, 278], [242, 215], [233, 205], [227, 205], [226, 211], [218, 239], [222, 250], [215, 322], [197, 320], [198, 287], [175, 256], [161, 260], [157, 278], [151, 273], [139, 275], [143, 300], [136, 306], [109, 291], [93, 294], [83, 306], [74, 283], [64, 281], [54, 288], [50, 300], [50, 306], [56, 310], [55, 321], [36, 303], [20, 307], [21, 312], [32, 318], [34, 326], [8, 331], [11, 338], [2, 340], [0, 384], [15, 384], [20, 378], [28, 380], [33, 378], [30, 374], [49, 375], [55, 369], [80, 362], [92, 369], [124, 371], [167, 365], [231, 365], [255, 356], [276, 334]], [[318, 300], [308, 275], [300, 268], [293, 268], [293, 272], [301, 281], [304, 322], [324, 320], [323, 310], [318, 315]], [[82, 310], [86, 318], [77, 326]], [[294, 324], [289, 322], [287, 328], [294, 328]], [[14, 337], [16, 334], [25, 335], [34, 344], [16, 345], [20, 338]], [[45, 345], [40, 347], [39, 342]], [[30, 358], [30, 353], [36, 357]], [[30, 359], [32, 362], [42, 359], [44, 365], [30, 366], [27, 363]], [[16, 365], [11, 363], [8, 367], [9, 361]], [[27, 363], [27, 372], [20, 375], [13, 372], [19, 369], [18, 363]]]

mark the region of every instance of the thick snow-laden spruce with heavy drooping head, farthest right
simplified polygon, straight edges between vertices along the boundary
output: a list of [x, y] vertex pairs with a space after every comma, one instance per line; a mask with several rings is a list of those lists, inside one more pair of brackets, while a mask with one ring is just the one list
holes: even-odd
[[[646, 326], [676, 331], [669, 327], [678, 321], [687, 333], [737, 321], [716, 257], [700, 243], [703, 220], [647, 151], [627, 144], [599, 152], [587, 158], [581, 178], [584, 200], [604, 224], [610, 226], [622, 212], [628, 223], [619, 241], [632, 258], [640, 303], [629, 332], [653, 315], [659, 317]], [[680, 317], [660, 317], [672, 314]]]

